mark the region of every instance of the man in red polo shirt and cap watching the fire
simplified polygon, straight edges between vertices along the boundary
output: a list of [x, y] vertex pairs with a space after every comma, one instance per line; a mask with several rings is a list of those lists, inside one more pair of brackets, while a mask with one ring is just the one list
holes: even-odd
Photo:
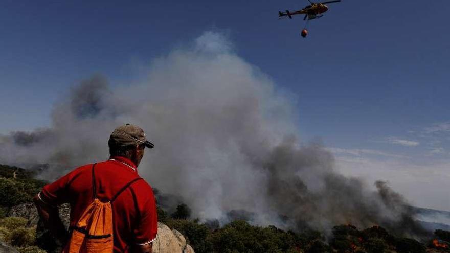
[[114, 252], [151, 252], [158, 231], [155, 199], [150, 185], [136, 179], [144, 148], [154, 146], [140, 127], [130, 124], [116, 128], [108, 146], [110, 159], [95, 164], [95, 176], [93, 165], [84, 165], [42, 188], [34, 197], [39, 216], [67, 249], [71, 229], [64, 228], [57, 206], [70, 203], [74, 228], [94, 196], [108, 202], [120, 193], [112, 204]]

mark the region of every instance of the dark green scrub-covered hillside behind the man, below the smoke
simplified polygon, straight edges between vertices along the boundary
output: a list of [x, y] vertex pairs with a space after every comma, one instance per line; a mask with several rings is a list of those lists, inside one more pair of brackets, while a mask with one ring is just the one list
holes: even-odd
[[[0, 241], [8, 242], [21, 253], [46, 252], [39, 248], [45, 247], [36, 240], [36, 226], [30, 225], [37, 223], [31, 218], [36, 215], [30, 214], [33, 209], [30, 202], [44, 183], [33, 179], [33, 173], [27, 170], [0, 165]], [[19, 204], [26, 207], [27, 218], [6, 217], [18, 213], [18, 208], [13, 206]], [[450, 252], [446, 243], [450, 241], [450, 232], [443, 230], [437, 230], [429, 241], [418, 242], [391, 235], [383, 227], [356, 228], [346, 224], [335, 226], [331, 237], [326, 239], [318, 231], [295, 233], [275, 226], [254, 226], [244, 220], [221, 227], [214, 221], [201, 223], [190, 219], [195, 215], [186, 204], [179, 204], [171, 213], [158, 208], [158, 214], [159, 221], [181, 232], [185, 245], [190, 244], [195, 252]]]

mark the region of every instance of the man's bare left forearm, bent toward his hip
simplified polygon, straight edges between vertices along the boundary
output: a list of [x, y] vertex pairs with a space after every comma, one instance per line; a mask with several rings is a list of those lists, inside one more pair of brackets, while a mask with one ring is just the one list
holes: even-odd
[[34, 196], [33, 202], [36, 205], [37, 212], [43, 220], [46, 228], [50, 230], [50, 233], [59, 241], [61, 245], [65, 245], [69, 239], [69, 233], [66, 231], [61, 218], [59, 218], [58, 208], [44, 203], [39, 198], [38, 194]]

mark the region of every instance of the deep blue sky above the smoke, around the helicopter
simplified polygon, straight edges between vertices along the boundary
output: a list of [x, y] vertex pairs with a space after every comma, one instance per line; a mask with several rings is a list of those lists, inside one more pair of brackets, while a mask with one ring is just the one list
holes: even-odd
[[[394, 170], [394, 189], [418, 205], [450, 210], [448, 193], [411, 193], [414, 183], [402, 179], [411, 170], [419, 173], [414, 182], [434, 173], [425, 186], [450, 179], [448, 2], [343, 0], [310, 21], [303, 39], [302, 17], [277, 20], [277, 12], [305, 5], [3, 1], [0, 133], [49, 126], [55, 102], [81, 79], [102, 73], [126, 84], [136, 66], [221, 31], [239, 56], [296, 98], [301, 136], [320, 137], [344, 173], [371, 180]], [[446, 194], [447, 203], [421, 200], [433, 194]]]

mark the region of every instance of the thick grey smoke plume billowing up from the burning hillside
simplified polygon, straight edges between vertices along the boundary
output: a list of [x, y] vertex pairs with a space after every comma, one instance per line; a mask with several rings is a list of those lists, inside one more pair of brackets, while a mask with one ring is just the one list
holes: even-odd
[[297, 122], [295, 101], [207, 32], [154, 60], [137, 83], [111, 88], [95, 76], [74, 87], [55, 105], [51, 128], [0, 139], [0, 163], [47, 163], [41, 176], [52, 180], [107, 159], [110, 132], [133, 123], [155, 144], [140, 174], [203, 220], [243, 210], [259, 225], [379, 224], [415, 233], [401, 196], [334, 172], [321, 144], [299, 141]]

